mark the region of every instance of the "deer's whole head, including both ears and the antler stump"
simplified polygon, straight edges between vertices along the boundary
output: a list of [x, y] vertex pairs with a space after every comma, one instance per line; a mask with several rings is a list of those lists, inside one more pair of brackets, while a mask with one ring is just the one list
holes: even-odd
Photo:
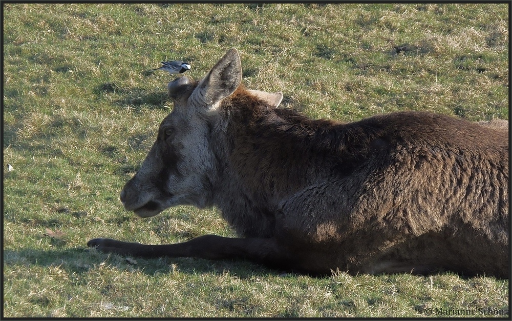
[[[197, 85], [186, 77], [168, 84], [174, 109], [160, 124], [157, 141], [141, 168], [121, 192], [126, 210], [149, 217], [176, 205], [211, 205], [218, 164], [209, 142], [210, 127], [222, 99], [240, 85], [241, 70], [238, 52], [232, 49]], [[275, 107], [283, 98], [282, 93], [251, 93]]]

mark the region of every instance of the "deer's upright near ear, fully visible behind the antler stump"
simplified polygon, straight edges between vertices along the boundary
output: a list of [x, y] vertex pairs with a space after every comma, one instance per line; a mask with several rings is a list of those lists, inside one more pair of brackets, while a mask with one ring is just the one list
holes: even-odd
[[202, 101], [212, 107], [237, 90], [242, 82], [242, 64], [237, 49], [229, 49], [199, 82], [193, 95], [196, 101]]

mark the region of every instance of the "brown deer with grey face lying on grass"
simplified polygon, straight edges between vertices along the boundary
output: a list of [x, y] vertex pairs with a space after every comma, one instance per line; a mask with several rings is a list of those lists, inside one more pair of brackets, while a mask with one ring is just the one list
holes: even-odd
[[244, 258], [312, 274], [508, 277], [503, 123], [428, 112], [313, 120], [276, 108], [281, 93], [246, 90], [241, 78], [233, 48], [201, 81], [170, 82], [174, 110], [120, 195], [141, 217], [181, 204], [217, 206], [240, 238], [172, 245], [96, 238], [89, 246], [143, 257]]

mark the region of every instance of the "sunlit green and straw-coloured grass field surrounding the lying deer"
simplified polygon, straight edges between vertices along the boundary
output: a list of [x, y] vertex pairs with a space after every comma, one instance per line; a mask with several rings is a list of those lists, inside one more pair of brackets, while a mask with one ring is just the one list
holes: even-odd
[[313, 278], [86, 247], [234, 236], [216, 209], [141, 219], [119, 202], [172, 108], [167, 73], [143, 72], [160, 61], [197, 79], [236, 47], [247, 87], [314, 118], [508, 119], [508, 21], [506, 4], [3, 4], [3, 315], [508, 317], [493, 277]]

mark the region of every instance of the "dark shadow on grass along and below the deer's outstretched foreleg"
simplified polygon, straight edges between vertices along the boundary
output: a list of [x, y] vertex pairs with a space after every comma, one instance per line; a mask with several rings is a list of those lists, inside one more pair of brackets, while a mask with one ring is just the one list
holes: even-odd
[[207, 260], [191, 257], [179, 258], [140, 258], [118, 254], [105, 254], [85, 245], [71, 249], [4, 249], [4, 268], [9, 265], [59, 267], [72, 273], [88, 273], [102, 266], [119, 271], [137, 270], [145, 275], [173, 274], [214, 274], [228, 273], [239, 278], [250, 279], [254, 276], [280, 274], [264, 266], [246, 260]]

